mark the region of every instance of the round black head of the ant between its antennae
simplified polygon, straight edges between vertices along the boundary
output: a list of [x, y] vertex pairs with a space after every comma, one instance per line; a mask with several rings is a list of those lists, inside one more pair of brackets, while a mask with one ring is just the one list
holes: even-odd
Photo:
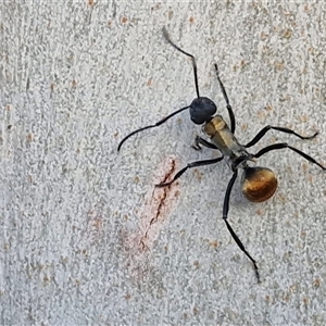
[[212, 100], [199, 97], [190, 104], [190, 118], [197, 125], [202, 125], [212, 118], [217, 108]]

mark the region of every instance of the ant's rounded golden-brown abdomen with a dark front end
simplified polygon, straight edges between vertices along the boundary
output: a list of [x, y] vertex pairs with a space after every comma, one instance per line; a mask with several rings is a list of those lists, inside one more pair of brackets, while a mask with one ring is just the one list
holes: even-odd
[[249, 201], [263, 202], [269, 199], [276, 188], [277, 178], [275, 173], [262, 166], [247, 166], [242, 174], [242, 192]]

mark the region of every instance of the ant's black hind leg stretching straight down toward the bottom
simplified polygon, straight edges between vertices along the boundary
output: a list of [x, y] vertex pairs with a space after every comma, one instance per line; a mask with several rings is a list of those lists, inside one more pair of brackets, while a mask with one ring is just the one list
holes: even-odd
[[231, 226], [229, 225], [227, 221], [227, 214], [228, 214], [228, 209], [229, 209], [229, 196], [231, 192], [231, 189], [234, 187], [235, 180], [238, 176], [238, 170], [235, 170], [233, 177], [230, 178], [226, 192], [225, 192], [225, 198], [224, 198], [224, 204], [223, 204], [223, 220], [227, 226], [227, 229], [229, 230], [230, 235], [233, 236], [234, 240], [237, 242], [238, 247], [244, 252], [244, 254], [251, 260], [253, 267], [254, 267], [254, 273], [258, 279], [258, 283], [260, 283], [260, 274], [259, 274], [259, 268], [256, 265], [255, 260], [250, 255], [250, 253], [246, 250], [243, 243], [239, 239], [239, 237], [236, 235]]

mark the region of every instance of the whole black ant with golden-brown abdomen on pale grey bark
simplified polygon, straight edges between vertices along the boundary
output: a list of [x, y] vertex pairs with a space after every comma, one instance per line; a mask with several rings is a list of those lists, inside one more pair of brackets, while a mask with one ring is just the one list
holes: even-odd
[[238, 177], [238, 170], [240, 168], [243, 171], [242, 177], [241, 177], [241, 186], [242, 186], [242, 193], [244, 195], [244, 197], [251, 202], [263, 202], [263, 201], [269, 199], [274, 195], [274, 192], [277, 188], [277, 178], [276, 178], [275, 173], [267, 167], [249, 166], [248, 163], [250, 161], [254, 161], [254, 159], [259, 159], [260, 156], [266, 154], [267, 152], [288, 148], [291, 151], [293, 151], [293, 152], [298, 153], [299, 155], [301, 155], [302, 158], [304, 158], [305, 160], [310, 161], [311, 163], [318, 165], [324, 171], [326, 170], [326, 167], [324, 167], [322, 164], [316, 162], [313, 158], [305, 154], [304, 152], [289, 146], [287, 142], [279, 142], [279, 143], [266, 146], [265, 148], [261, 149], [255, 154], [249, 153], [247, 151], [247, 149], [254, 146], [255, 143], [258, 143], [264, 137], [264, 135], [271, 129], [281, 131], [285, 134], [294, 135], [301, 139], [313, 139], [318, 135], [318, 133], [315, 133], [312, 136], [304, 137], [289, 128], [267, 125], [264, 128], [262, 128], [253, 137], [253, 139], [251, 141], [249, 141], [246, 145], [241, 145], [235, 137], [235, 130], [236, 130], [235, 114], [234, 114], [231, 105], [229, 103], [224, 85], [220, 78], [220, 72], [218, 72], [217, 64], [214, 64], [216, 77], [217, 77], [224, 100], [226, 102], [226, 109], [227, 109], [228, 115], [229, 115], [230, 127], [227, 125], [227, 123], [222, 117], [222, 115], [220, 115], [220, 114], [214, 115], [217, 110], [215, 103], [211, 99], [209, 99], [206, 97], [201, 97], [199, 95], [197, 64], [196, 64], [195, 57], [187, 53], [186, 51], [180, 49], [178, 46], [176, 46], [170, 39], [165, 27], [163, 28], [163, 36], [172, 47], [174, 47], [177, 51], [181, 52], [183, 54], [185, 54], [191, 59], [197, 98], [191, 102], [190, 105], [181, 108], [181, 109], [171, 113], [170, 115], [160, 120], [158, 123], [139, 128], [139, 129], [130, 133], [129, 135], [127, 135], [120, 142], [120, 145], [117, 147], [117, 151], [121, 150], [122, 145], [133, 135], [140, 133], [142, 130], [149, 129], [149, 128], [158, 127], [158, 126], [162, 125], [163, 123], [165, 123], [171, 117], [173, 117], [174, 115], [189, 109], [191, 121], [197, 125], [202, 125], [202, 131], [208, 136], [209, 139], [211, 139], [211, 141], [208, 141], [202, 137], [197, 136], [192, 147], [196, 150], [200, 150], [201, 146], [204, 146], [204, 147], [213, 149], [213, 150], [218, 150], [222, 155], [220, 158], [212, 159], [212, 160], [203, 160], [203, 161], [196, 161], [196, 162], [188, 163], [187, 166], [185, 166], [184, 168], [181, 168], [179, 172], [177, 172], [175, 174], [174, 178], [171, 181], [155, 185], [155, 187], [170, 186], [176, 179], [178, 179], [188, 168], [192, 168], [196, 166], [209, 165], [209, 164], [215, 164], [215, 163], [222, 161], [224, 158], [226, 158], [227, 164], [230, 167], [230, 170], [233, 171], [233, 176], [228, 183], [228, 186], [227, 186], [226, 192], [225, 192], [225, 197], [224, 197], [223, 221], [225, 222], [227, 229], [229, 230], [231, 237], [234, 238], [234, 240], [236, 241], [238, 247], [252, 262], [256, 279], [260, 283], [260, 274], [259, 274], [256, 261], [246, 250], [243, 243], [241, 242], [239, 237], [236, 235], [236, 233], [234, 231], [233, 227], [230, 226], [230, 224], [228, 223], [228, 220], [227, 220], [228, 211], [229, 211], [229, 197], [230, 197], [230, 192], [234, 187], [234, 184]]

